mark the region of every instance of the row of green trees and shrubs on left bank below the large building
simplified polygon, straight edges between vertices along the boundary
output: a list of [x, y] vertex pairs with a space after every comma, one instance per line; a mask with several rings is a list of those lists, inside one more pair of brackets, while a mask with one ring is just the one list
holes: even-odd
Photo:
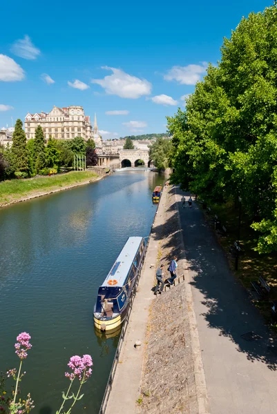
[[72, 167], [74, 155], [85, 155], [87, 166], [97, 165], [93, 139], [82, 137], [61, 140], [50, 137], [45, 144], [44, 131], [39, 125], [35, 138], [26, 140], [21, 119], [17, 119], [12, 134], [12, 146], [0, 147], [0, 180], [28, 178], [59, 172], [61, 167]]

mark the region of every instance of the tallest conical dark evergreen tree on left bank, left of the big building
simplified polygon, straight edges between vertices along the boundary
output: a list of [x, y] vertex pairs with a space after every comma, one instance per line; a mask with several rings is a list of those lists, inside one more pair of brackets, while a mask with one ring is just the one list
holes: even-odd
[[28, 176], [29, 160], [26, 145], [26, 135], [22, 129], [21, 119], [17, 119], [15, 132], [12, 134], [12, 148], [10, 151], [10, 166], [15, 172], [20, 172], [21, 176]]

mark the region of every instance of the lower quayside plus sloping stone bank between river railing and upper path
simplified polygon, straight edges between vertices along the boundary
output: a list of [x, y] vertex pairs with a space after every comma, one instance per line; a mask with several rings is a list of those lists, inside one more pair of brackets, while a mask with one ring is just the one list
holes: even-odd
[[[178, 255], [186, 274], [175, 190], [164, 188], [106, 414], [206, 413], [206, 388], [189, 284], [153, 295], [155, 270]], [[134, 348], [136, 340], [142, 342]], [[158, 380], [157, 380], [158, 379]], [[122, 395], [124, 399], [122, 400]], [[123, 405], [122, 405], [123, 404]]]

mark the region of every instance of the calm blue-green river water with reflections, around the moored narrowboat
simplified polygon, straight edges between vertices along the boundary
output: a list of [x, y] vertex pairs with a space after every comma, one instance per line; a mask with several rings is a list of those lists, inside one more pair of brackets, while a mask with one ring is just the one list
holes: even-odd
[[55, 414], [66, 364], [84, 353], [93, 375], [73, 413], [98, 413], [118, 335], [95, 335], [97, 290], [127, 237], [149, 234], [151, 193], [163, 181], [154, 172], [117, 172], [0, 210], [0, 371], [18, 367], [15, 339], [30, 333], [21, 390], [35, 400], [33, 414]]

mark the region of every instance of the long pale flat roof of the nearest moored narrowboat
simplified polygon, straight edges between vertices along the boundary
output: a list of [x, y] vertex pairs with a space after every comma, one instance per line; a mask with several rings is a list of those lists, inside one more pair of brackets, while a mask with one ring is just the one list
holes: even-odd
[[140, 247], [142, 242], [142, 237], [129, 237], [124, 248], [122, 248], [120, 255], [115, 260], [113, 267], [111, 268], [108, 276], [102, 283], [101, 287], [111, 287], [108, 284], [108, 280], [115, 279], [117, 284], [114, 285], [115, 288], [120, 288], [124, 285], [128, 270], [131, 268], [137, 250]]

